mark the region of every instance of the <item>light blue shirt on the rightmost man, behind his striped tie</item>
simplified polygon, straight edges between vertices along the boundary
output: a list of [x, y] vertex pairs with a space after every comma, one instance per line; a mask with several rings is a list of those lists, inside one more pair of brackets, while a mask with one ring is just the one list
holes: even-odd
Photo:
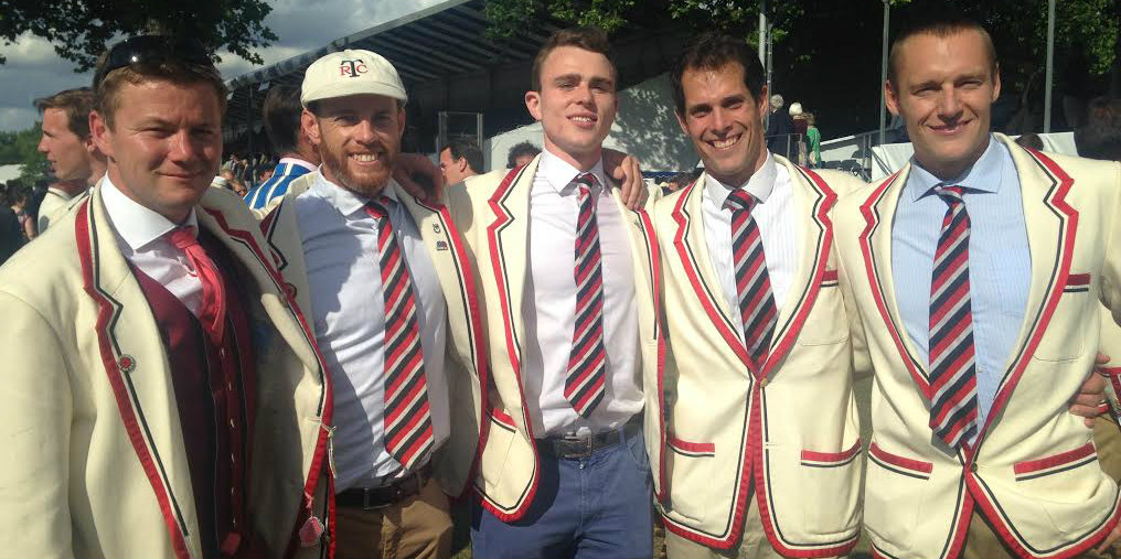
[[939, 180], [911, 158], [891, 230], [891, 273], [904, 327], [924, 363], [929, 363], [934, 251], [947, 207], [934, 193], [942, 185], [963, 187], [970, 214], [970, 302], [983, 426], [1023, 324], [1031, 283], [1020, 179], [1011, 152], [991, 136], [981, 158], [955, 180]]

